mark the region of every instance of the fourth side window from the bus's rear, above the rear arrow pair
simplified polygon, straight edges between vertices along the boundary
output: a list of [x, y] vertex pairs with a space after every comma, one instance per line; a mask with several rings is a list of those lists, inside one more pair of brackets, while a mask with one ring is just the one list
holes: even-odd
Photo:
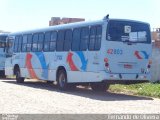
[[79, 51], [79, 45], [80, 45], [80, 28], [75, 28], [73, 30], [73, 40], [72, 40], [72, 50], [73, 51]]

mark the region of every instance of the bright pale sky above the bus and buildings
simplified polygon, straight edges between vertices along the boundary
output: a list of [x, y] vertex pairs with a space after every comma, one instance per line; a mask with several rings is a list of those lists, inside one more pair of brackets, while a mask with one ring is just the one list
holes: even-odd
[[49, 26], [51, 17], [86, 21], [133, 19], [160, 27], [160, 0], [0, 0], [0, 30], [21, 31]]

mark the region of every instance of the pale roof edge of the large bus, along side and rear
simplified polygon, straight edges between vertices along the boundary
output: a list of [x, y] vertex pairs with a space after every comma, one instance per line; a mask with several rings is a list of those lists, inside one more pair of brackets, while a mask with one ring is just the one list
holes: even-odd
[[[131, 21], [131, 22], [138, 22], [143, 24], [148, 24], [146, 22], [142, 21], [136, 21], [136, 20], [129, 20], [129, 19], [108, 19], [110, 20], [117, 20], [117, 21]], [[13, 32], [9, 34], [10, 36], [13, 35], [19, 35], [19, 34], [31, 34], [31, 33], [40, 33], [40, 32], [46, 32], [46, 31], [54, 31], [54, 30], [61, 30], [61, 29], [71, 29], [71, 28], [77, 28], [77, 27], [83, 27], [83, 26], [90, 26], [90, 25], [100, 25], [106, 22], [106, 19], [103, 20], [97, 20], [97, 21], [82, 21], [82, 22], [76, 22], [76, 23], [69, 23], [69, 24], [60, 24], [55, 26], [49, 26], [46, 28], [39, 28], [39, 29], [33, 29], [33, 30], [27, 30], [27, 31], [19, 31], [19, 32]], [[148, 24], [149, 25], [149, 24]]]

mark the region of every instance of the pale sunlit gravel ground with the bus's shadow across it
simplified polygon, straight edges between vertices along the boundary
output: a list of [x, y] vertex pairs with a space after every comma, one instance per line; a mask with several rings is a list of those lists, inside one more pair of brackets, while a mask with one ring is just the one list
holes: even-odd
[[86, 88], [62, 92], [53, 84], [0, 80], [0, 113], [160, 113], [160, 99], [117, 93], [94, 92]]

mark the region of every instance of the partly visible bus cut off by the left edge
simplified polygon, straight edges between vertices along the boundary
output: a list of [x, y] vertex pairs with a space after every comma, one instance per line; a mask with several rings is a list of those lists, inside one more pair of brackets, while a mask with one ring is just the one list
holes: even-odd
[[6, 38], [7, 33], [0, 33], [0, 77], [5, 77], [4, 66], [6, 60]]

